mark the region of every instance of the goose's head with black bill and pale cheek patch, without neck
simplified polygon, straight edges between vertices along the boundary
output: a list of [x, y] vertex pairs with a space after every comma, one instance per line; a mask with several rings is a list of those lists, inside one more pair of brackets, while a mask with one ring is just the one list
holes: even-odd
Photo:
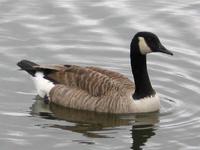
[[151, 32], [138, 32], [132, 41], [132, 44], [136, 44], [139, 48], [139, 52], [142, 55], [146, 55], [151, 52], [162, 52], [165, 54], [173, 55], [173, 53], [167, 50], [160, 42], [158, 37]]

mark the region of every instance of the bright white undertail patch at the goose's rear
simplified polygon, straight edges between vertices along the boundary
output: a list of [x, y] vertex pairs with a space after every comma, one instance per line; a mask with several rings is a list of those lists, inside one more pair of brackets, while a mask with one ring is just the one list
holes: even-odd
[[49, 96], [50, 90], [55, 86], [53, 82], [44, 78], [43, 72], [36, 72], [35, 76], [33, 77], [33, 82], [38, 95], [42, 98]]

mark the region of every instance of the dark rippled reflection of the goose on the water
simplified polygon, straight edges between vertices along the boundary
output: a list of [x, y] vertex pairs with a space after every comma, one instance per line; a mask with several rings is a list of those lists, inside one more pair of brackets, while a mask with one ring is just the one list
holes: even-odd
[[142, 149], [148, 139], [155, 135], [155, 124], [159, 122], [158, 113], [137, 115], [102, 114], [47, 104], [38, 98], [31, 107], [31, 115], [46, 119], [66, 120], [73, 124], [48, 124], [44, 126], [81, 133], [90, 138], [114, 138], [110, 134], [101, 134], [99, 131], [114, 130], [119, 126], [132, 126], [130, 133], [133, 139], [131, 149], [134, 150]]

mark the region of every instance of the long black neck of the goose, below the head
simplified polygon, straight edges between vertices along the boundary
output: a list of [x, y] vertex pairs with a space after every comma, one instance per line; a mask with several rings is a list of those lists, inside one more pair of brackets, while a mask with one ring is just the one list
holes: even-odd
[[146, 55], [142, 55], [139, 52], [138, 44], [131, 44], [130, 58], [135, 81], [135, 93], [133, 94], [133, 99], [137, 100], [155, 95], [147, 72]]

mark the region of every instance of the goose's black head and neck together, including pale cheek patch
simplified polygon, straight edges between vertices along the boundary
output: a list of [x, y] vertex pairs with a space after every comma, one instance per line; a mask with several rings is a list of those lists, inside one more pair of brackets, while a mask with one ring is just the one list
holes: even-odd
[[130, 51], [131, 68], [135, 81], [135, 93], [133, 94], [133, 99], [135, 100], [156, 94], [151, 86], [146, 64], [146, 54], [153, 52], [173, 55], [171, 51], [161, 44], [155, 34], [138, 32], [132, 39]]

